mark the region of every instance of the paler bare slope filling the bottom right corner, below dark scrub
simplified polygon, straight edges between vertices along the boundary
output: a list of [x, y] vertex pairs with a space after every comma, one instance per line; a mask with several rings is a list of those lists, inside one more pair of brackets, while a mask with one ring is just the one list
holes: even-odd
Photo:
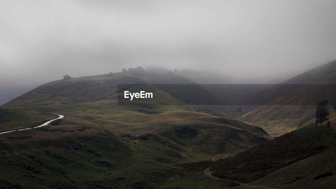
[[334, 188], [336, 149], [326, 150], [280, 168], [251, 185], [276, 188]]

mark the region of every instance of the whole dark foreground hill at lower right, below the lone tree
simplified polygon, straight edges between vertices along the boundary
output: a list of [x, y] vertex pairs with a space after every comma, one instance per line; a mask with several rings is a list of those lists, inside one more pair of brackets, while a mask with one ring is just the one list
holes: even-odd
[[[212, 175], [276, 188], [332, 188], [336, 132], [305, 126], [211, 167]], [[253, 181], [253, 182], [252, 182]]]

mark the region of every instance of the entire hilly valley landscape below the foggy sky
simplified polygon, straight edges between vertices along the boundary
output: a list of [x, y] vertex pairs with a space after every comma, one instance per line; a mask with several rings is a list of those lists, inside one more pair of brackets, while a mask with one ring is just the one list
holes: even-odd
[[[0, 187], [281, 189], [335, 184], [335, 90], [329, 82], [334, 72], [313, 83], [300, 83], [308, 71], [280, 85], [216, 88], [153, 70], [152, 75], [57, 80], [2, 105]], [[124, 91], [146, 91], [153, 98], [130, 101]], [[316, 103], [322, 99], [330, 102], [331, 128], [314, 125]]]

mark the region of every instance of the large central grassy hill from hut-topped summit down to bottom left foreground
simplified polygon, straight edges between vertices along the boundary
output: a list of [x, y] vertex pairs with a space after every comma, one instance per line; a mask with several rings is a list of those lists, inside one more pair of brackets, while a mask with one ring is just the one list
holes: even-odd
[[[40, 119], [54, 116], [47, 113], [65, 117], [54, 125], [0, 135], [0, 188], [233, 186], [184, 172], [175, 163], [235, 155], [271, 139], [260, 127], [198, 112], [154, 85], [145, 85], [146, 90], [159, 98], [121, 105], [117, 88], [111, 87], [120, 80], [143, 84], [122, 73], [60, 80], [1, 108], [6, 121], [0, 126], [6, 129], [39, 113], [45, 113]], [[12, 116], [20, 112], [32, 116]], [[202, 184], [195, 183], [199, 180]]]

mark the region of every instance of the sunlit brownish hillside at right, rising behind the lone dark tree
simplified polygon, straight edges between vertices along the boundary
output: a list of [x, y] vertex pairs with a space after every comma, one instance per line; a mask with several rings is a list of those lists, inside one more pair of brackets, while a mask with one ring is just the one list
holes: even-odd
[[[336, 61], [297, 75], [244, 102], [240, 120], [264, 128], [270, 135], [282, 135], [314, 122], [315, 108], [326, 99], [336, 103]], [[329, 107], [333, 113], [332, 107]]]

